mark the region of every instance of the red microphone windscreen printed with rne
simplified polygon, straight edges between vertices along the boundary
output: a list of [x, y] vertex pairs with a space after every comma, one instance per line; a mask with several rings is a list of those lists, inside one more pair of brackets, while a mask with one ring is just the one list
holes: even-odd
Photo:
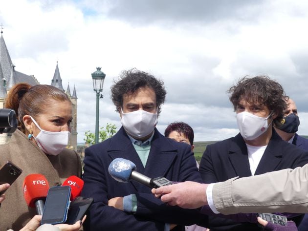
[[24, 178], [22, 189], [23, 197], [27, 205], [34, 208], [35, 201], [47, 196], [49, 184], [44, 175], [30, 174]]

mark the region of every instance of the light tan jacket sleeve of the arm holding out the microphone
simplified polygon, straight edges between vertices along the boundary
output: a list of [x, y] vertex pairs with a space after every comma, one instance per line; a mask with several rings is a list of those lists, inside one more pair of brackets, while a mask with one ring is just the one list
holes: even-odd
[[223, 214], [308, 212], [308, 164], [216, 183], [213, 201]]

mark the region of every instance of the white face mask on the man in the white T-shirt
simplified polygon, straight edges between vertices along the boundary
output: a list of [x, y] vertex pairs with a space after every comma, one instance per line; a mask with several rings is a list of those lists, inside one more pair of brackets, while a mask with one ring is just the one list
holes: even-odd
[[267, 119], [270, 117], [270, 113], [267, 117], [259, 117], [249, 112], [243, 111], [236, 115], [238, 127], [242, 137], [245, 140], [254, 140], [261, 136], [272, 123], [267, 124]]

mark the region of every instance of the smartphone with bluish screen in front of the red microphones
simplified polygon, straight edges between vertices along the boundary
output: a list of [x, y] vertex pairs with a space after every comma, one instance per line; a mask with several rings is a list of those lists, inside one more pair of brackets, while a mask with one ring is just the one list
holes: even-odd
[[66, 221], [70, 187], [57, 186], [48, 190], [41, 224], [62, 224]]

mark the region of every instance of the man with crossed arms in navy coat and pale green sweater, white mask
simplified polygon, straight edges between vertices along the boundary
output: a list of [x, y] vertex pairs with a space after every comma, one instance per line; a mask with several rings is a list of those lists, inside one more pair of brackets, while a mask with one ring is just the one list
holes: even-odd
[[85, 150], [82, 195], [94, 197], [86, 231], [176, 231], [184, 227], [170, 223], [196, 223], [197, 210], [170, 207], [155, 198], [150, 188], [135, 181], [117, 182], [108, 172], [111, 161], [121, 157], [150, 178], [202, 182], [191, 147], [164, 137], [155, 128], [165, 95], [162, 81], [136, 69], [123, 72], [111, 86], [111, 99], [123, 126], [112, 138]]

